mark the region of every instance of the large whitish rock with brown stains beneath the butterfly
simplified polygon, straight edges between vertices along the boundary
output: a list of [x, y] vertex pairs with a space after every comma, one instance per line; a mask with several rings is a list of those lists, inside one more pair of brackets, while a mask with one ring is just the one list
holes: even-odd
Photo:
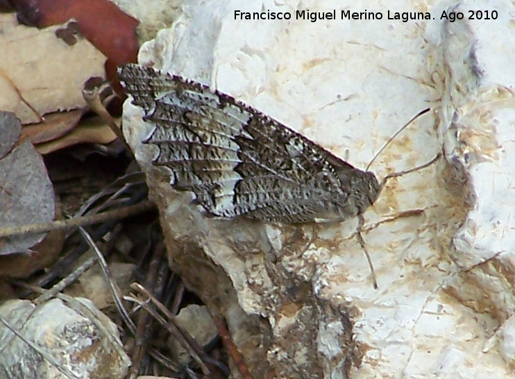
[[[202, 4], [202, 5], [200, 5]], [[230, 333], [255, 378], [505, 378], [515, 348], [514, 32], [507, 1], [184, 1], [140, 63], [199, 80], [364, 169], [412, 115], [433, 110], [375, 161], [387, 182], [364, 215], [378, 290], [340, 224], [209, 218], [174, 191], [126, 103], [124, 133], [160, 208], [169, 258]], [[243, 9], [244, 8], [244, 9]], [[382, 12], [382, 20], [235, 20], [248, 12]], [[387, 19], [430, 12], [431, 20]], [[464, 19], [441, 20], [446, 10]], [[468, 10], [496, 10], [469, 20]], [[294, 17], [293, 17], [294, 18]], [[394, 217], [401, 215], [401, 217]], [[381, 220], [389, 222], [379, 223]]]

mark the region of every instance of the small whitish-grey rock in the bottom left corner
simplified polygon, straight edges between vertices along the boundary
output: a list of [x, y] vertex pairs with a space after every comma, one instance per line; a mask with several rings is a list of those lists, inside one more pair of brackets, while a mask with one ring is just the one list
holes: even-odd
[[65, 299], [12, 299], [0, 306], [0, 378], [127, 376], [130, 360], [117, 326], [90, 300]]

